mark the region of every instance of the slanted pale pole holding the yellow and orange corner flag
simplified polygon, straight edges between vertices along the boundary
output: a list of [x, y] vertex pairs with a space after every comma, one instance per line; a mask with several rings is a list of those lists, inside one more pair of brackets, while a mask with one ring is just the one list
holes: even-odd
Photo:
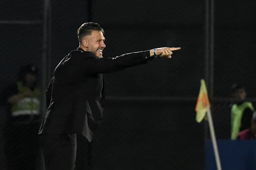
[[214, 126], [213, 126], [213, 121], [212, 121], [212, 113], [211, 113], [209, 106], [207, 106], [207, 117], [208, 117], [208, 123], [209, 123], [209, 127], [210, 127], [210, 134], [211, 134], [211, 139], [212, 139], [212, 146], [213, 146], [217, 170], [221, 170], [220, 156], [219, 156]]

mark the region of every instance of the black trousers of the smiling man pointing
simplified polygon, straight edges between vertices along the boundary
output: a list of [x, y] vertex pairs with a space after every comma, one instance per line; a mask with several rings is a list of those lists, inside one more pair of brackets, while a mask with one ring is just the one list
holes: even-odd
[[76, 134], [40, 135], [46, 170], [73, 170], [76, 160]]

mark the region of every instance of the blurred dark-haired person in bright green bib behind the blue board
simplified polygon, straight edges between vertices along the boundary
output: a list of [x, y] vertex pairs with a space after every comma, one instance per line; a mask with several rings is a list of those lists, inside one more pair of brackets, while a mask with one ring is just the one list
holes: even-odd
[[255, 109], [251, 102], [245, 101], [246, 91], [242, 85], [232, 85], [231, 97], [231, 140], [236, 140], [240, 131], [251, 127]]

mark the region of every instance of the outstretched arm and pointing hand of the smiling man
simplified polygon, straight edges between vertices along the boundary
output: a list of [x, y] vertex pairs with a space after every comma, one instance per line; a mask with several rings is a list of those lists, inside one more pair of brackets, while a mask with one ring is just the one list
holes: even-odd
[[54, 75], [58, 80], [63, 78], [65, 81], [77, 81], [84, 74], [108, 73], [145, 64], [155, 55], [171, 58], [173, 51], [176, 50], [180, 50], [180, 48], [156, 48], [148, 51], [128, 53], [116, 58], [97, 58], [92, 52], [74, 51], [69, 54], [71, 55], [70, 59], [56, 68]]

